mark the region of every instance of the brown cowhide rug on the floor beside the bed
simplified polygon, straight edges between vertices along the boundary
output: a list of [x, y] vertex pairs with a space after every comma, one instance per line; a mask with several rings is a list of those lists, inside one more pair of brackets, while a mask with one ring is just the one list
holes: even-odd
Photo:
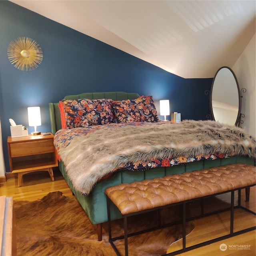
[[[92, 225], [74, 197], [52, 192], [40, 200], [14, 201], [18, 256], [112, 256], [116, 255], [108, 243], [108, 226], [103, 224], [102, 241], [97, 240], [96, 226]], [[171, 222], [179, 217], [180, 209], [166, 210], [163, 219]], [[156, 223], [154, 213], [129, 220], [130, 231]], [[122, 235], [122, 220], [112, 224], [113, 237]], [[194, 229], [190, 222], [189, 234]], [[181, 225], [129, 238], [130, 256], [156, 256], [165, 254], [168, 246], [181, 238]], [[115, 242], [124, 252], [123, 240]]]

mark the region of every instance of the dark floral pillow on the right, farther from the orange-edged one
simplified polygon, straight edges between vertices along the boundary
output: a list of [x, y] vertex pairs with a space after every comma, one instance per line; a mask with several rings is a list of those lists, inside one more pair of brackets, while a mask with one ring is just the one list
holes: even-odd
[[112, 102], [118, 123], [158, 122], [158, 115], [152, 96], [140, 96], [135, 100], [116, 100]]

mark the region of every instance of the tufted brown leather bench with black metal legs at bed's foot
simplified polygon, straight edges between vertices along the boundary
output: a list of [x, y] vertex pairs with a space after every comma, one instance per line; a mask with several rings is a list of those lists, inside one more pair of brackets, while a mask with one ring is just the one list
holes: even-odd
[[[131, 184], [120, 184], [107, 188], [105, 194], [107, 195], [107, 204], [109, 205], [110, 199], [118, 207], [124, 216], [124, 222], [127, 223], [127, 216], [226, 192], [232, 192], [234, 196], [235, 190], [240, 191], [242, 188], [249, 188], [255, 184], [256, 169], [254, 166], [229, 164], [185, 172], [183, 174], [174, 174], [162, 178], [154, 178], [152, 180], [133, 182]], [[113, 246], [109, 209], [108, 215], [110, 243]], [[124, 229], [125, 255], [127, 256], [128, 234], [126, 224]], [[233, 233], [233, 231], [230, 233]], [[118, 251], [116, 253], [120, 255]]]

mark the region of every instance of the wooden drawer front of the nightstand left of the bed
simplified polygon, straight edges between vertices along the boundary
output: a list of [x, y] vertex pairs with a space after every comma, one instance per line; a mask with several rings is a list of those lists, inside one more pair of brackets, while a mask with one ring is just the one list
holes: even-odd
[[30, 156], [54, 152], [53, 140], [35, 140], [10, 144], [12, 157]]

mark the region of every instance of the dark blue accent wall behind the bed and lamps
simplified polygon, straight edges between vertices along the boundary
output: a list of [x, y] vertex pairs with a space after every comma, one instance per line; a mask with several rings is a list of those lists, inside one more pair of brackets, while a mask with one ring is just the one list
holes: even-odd
[[[37, 69], [18, 70], [8, 60], [8, 45], [19, 37], [32, 38], [42, 48], [44, 57]], [[41, 132], [50, 131], [49, 102], [82, 92], [152, 95], [156, 106], [158, 100], [169, 99], [171, 112], [180, 112], [182, 119], [206, 120], [210, 109], [204, 92], [211, 84], [212, 78], [181, 78], [12, 2], [0, 1], [0, 120], [7, 172], [9, 118], [28, 126], [28, 106], [40, 106]], [[28, 132], [33, 129], [29, 127]]]

